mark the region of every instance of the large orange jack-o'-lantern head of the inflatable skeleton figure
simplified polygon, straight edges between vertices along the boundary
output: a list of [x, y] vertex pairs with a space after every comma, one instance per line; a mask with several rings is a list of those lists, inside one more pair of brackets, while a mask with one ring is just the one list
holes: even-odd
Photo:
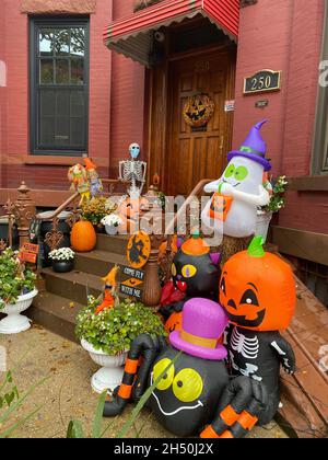
[[291, 267], [265, 252], [256, 237], [248, 251], [232, 256], [222, 269], [220, 302], [232, 324], [251, 331], [285, 330], [296, 303]]

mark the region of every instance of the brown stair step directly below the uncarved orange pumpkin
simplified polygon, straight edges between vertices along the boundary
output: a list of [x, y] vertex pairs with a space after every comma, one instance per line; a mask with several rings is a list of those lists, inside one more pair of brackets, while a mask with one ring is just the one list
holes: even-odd
[[99, 277], [106, 276], [115, 264], [127, 265], [126, 255], [101, 250], [75, 254], [75, 271]]

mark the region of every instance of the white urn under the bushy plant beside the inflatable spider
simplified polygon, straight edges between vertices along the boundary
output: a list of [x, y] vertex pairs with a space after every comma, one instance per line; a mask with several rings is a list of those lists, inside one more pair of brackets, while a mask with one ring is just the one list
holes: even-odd
[[90, 354], [91, 359], [98, 366], [102, 366], [91, 379], [92, 389], [96, 393], [103, 393], [105, 390], [113, 392], [121, 383], [128, 352], [118, 356], [109, 356], [102, 350], [95, 349], [93, 345], [83, 338], [81, 345]]

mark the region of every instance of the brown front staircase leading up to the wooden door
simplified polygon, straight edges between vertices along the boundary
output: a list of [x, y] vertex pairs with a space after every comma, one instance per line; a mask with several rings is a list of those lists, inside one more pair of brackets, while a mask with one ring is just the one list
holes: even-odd
[[[115, 265], [127, 265], [127, 237], [97, 234], [96, 249], [75, 254], [74, 271], [55, 273], [51, 267], [42, 271], [45, 289], [28, 310], [28, 317], [37, 324], [65, 338], [75, 341], [75, 318], [86, 306], [87, 295], [102, 292], [101, 277]], [[121, 276], [124, 279], [124, 276]]]

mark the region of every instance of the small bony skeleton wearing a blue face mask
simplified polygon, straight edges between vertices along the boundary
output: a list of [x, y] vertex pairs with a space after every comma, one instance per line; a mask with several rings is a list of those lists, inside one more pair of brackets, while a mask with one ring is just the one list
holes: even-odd
[[119, 162], [119, 180], [130, 182], [131, 186], [128, 189], [128, 194], [132, 198], [139, 198], [145, 183], [147, 163], [137, 160], [140, 154], [140, 146], [138, 143], [131, 143], [129, 151], [131, 160]]

